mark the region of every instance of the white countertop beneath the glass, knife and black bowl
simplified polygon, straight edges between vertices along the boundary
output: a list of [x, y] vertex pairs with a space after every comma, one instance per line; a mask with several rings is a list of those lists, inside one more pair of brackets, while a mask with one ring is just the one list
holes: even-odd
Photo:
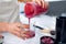
[[[28, 19], [24, 16], [24, 13], [20, 14], [20, 20], [23, 23], [29, 23]], [[55, 18], [48, 16], [48, 15], [40, 15], [36, 18], [33, 18], [31, 20], [31, 29], [34, 29], [32, 25], [34, 24], [40, 25], [42, 28], [51, 28], [51, 30], [54, 30], [55, 26]], [[21, 40], [10, 33], [3, 33], [4, 35], [4, 44], [40, 44], [40, 37], [44, 34], [38, 33], [40, 31], [35, 29], [35, 37], [30, 40]], [[48, 34], [46, 34], [48, 35]]]

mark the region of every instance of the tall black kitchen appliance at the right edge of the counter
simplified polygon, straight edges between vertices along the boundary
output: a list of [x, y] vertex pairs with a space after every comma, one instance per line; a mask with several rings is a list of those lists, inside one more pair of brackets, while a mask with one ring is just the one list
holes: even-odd
[[66, 16], [56, 19], [56, 42], [55, 44], [66, 44]]

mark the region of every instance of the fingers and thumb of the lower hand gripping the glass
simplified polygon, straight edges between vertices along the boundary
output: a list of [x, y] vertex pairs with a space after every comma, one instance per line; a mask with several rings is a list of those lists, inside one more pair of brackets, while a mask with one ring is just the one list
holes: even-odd
[[29, 38], [29, 35], [26, 34], [24, 29], [29, 29], [30, 25], [29, 24], [20, 24], [20, 23], [16, 23], [16, 25], [20, 28], [15, 28], [13, 34], [23, 38], [23, 40]]

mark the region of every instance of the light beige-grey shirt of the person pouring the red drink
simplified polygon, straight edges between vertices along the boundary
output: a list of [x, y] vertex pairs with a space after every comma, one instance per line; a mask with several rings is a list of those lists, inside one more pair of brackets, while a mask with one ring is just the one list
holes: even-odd
[[19, 6], [16, 4], [16, 2], [13, 0], [1, 0], [0, 22], [18, 22], [19, 19]]

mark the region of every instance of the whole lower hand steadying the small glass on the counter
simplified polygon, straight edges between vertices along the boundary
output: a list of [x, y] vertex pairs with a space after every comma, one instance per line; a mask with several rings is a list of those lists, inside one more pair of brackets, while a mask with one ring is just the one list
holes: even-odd
[[29, 29], [29, 25], [21, 24], [21, 23], [9, 23], [7, 31], [19, 37], [26, 38], [26, 37], [29, 37], [29, 35], [25, 34], [26, 32], [24, 29]]

